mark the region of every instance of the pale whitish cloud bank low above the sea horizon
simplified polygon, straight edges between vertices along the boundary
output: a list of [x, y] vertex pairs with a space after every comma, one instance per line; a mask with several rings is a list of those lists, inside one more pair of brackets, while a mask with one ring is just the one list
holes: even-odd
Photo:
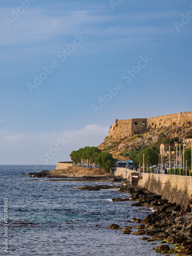
[[[61, 150], [49, 160], [49, 164], [70, 160], [70, 153], [84, 146], [97, 146], [108, 134], [109, 127], [89, 124], [80, 130], [61, 133], [40, 133], [33, 135], [7, 134], [0, 131], [0, 164], [42, 164], [40, 159], [50, 153], [60, 141]], [[10, 157], [11, 156], [11, 157]], [[41, 157], [41, 158], [40, 158]]]

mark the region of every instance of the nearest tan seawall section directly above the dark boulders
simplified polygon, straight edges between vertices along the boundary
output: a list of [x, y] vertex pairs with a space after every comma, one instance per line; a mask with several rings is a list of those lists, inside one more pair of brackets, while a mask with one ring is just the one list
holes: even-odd
[[192, 177], [143, 173], [138, 186], [157, 193], [162, 199], [186, 209], [192, 193]]

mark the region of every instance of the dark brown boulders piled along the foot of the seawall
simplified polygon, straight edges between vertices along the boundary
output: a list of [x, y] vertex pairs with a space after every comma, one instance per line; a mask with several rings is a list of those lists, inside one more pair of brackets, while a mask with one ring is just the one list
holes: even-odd
[[[162, 253], [176, 253], [176, 255], [192, 255], [192, 212], [186, 212], [180, 205], [168, 203], [168, 200], [161, 199], [156, 195], [139, 187], [123, 187], [119, 190], [122, 193], [131, 194], [131, 200], [138, 202], [132, 206], [146, 206], [156, 209], [152, 214], [147, 215], [143, 220], [132, 218], [130, 223], [141, 223], [140, 226], [126, 226], [123, 229], [116, 224], [108, 226], [112, 229], [122, 229], [125, 234], [132, 233], [132, 228], [139, 229], [132, 234], [145, 235], [141, 240], [155, 242], [161, 240], [162, 245], [152, 248]], [[123, 199], [112, 199], [124, 201]], [[166, 244], [165, 244], [166, 243]], [[155, 243], [152, 243], [155, 244]], [[174, 244], [175, 248], [170, 248], [168, 244]], [[167, 255], [168, 255], [167, 254]]]

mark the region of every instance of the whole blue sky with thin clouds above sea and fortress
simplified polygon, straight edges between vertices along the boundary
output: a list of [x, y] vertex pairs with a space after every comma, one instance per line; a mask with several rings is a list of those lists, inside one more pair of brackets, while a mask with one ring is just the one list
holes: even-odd
[[191, 111], [190, 1], [0, 5], [0, 164], [70, 160], [116, 118]]

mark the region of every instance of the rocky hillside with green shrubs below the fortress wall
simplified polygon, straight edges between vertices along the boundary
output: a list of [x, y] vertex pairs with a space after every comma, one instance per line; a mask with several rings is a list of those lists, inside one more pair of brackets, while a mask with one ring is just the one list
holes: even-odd
[[[183, 144], [184, 139], [192, 137], [191, 127], [179, 127], [170, 125], [165, 128], [157, 129], [153, 132], [138, 134], [133, 137], [123, 137], [113, 139], [112, 136], [105, 137], [104, 141], [98, 146], [102, 152], [108, 152], [118, 160], [133, 160], [136, 164], [142, 162], [145, 154], [145, 163], [156, 164], [160, 162], [160, 144], [172, 144], [170, 150], [175, 151], [175, 144]], [[185, 159], [191, 162], [191, 143], [186, 145]], [[182, 145], [181, 145], [182, 150]], [[163, 161], [168, 161], [165, 155]], [[176, 153], [171, 154], [171, 161], [176, 158]]]

